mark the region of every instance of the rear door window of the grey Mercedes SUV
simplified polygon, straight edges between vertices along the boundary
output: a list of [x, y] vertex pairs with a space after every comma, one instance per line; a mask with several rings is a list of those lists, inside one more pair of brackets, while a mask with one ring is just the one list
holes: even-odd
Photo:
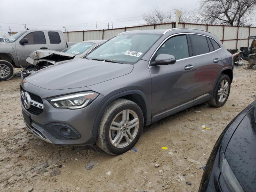
[[189, 37], [192, 46], [193, 56], [210, 52], [206, 36], [190, 34]]

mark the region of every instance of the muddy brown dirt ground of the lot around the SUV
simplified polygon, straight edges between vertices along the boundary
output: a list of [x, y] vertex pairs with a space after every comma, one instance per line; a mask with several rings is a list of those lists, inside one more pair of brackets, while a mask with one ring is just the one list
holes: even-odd
[[[60, 147], [40, 140], [22, 120], [20, 77], [0, 82], [0, 191], [159, 192], [164, 191], [164, 182], [192, 164], [189, 159], [198, 160], [206, 154], [199, 164], [182, 173], [185, 180], [176, 177], [165, 189], [196, 192], [204, 172], [200, 168], [218, 136], [256, 99], [255, 80], [256, 70], [235, 69], [223, 107], [199, 104], [147, 126], [135, 145], [137, 152], [130, 150], [119, 156], [110, 156], [95, 146]], [[202, 129], [202, 125], [210, 130]], [[87, 170], [91, 160], [97, 165]]]

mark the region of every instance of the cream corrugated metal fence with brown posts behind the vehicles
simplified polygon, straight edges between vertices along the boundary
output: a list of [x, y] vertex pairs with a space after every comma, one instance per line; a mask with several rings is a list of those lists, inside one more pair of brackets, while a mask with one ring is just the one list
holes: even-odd
[[[175, 23], [145, 25], [124, 27], [108, 30], [92, 30], [92, 31], [75, 31], [66, 32], [66, 40], [68, 42], [81, 42], [94, 39], [110, 39], [119, 33], [132, 30], [150, 30], [150, 29], [171, 29]], [[221, 25], [203, 25], [191, 23], [179, 23], [179, 28], [196, 28], [207, 30], [216, 35], [228, 49], [236, 49], [242, 46], [247, 47], [252, 40], [248, 36], [256, 36], [256, 27], [237, 27], [237, 26], [221, 26]]]

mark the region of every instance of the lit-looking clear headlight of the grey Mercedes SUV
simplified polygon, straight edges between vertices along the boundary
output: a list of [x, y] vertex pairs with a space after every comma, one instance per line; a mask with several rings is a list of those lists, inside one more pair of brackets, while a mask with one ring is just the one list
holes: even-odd
[[56, 108], [80, 109], [90, 104], [98, 95], [96, 92], [88, 91], [60, 96], [48, 101]]

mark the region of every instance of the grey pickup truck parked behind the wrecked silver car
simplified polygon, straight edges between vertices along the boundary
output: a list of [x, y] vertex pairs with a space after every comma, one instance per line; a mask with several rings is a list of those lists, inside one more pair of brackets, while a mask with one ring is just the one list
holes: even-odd
[[35, 50], [61, 51], [71, 46], [58, 30], [21, 31], [0, 44], [0, 81], [14, 76], [14, 67], [26, 67], [26, 58]]

